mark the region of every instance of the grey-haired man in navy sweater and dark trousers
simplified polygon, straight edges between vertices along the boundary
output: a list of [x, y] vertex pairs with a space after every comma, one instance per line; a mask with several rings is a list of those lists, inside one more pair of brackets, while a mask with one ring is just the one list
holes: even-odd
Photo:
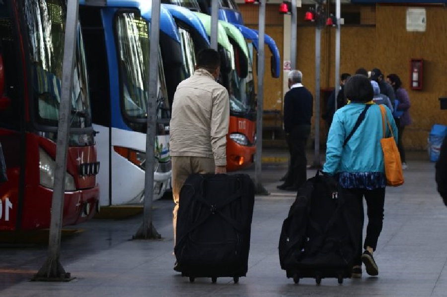
[[312, 94], [302, 85], [299, 70], [289, 72], [290, 90], [284, 96], [284, 131], [290, 151], [290, 170], [278, 189], [296, 191], [307, 179], [306, 143], [313, 111]]

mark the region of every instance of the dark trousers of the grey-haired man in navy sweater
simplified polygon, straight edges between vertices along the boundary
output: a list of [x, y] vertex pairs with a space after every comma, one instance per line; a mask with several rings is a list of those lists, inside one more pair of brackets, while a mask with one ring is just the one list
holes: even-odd
[[297, 125], [288, 137], [290, 152], [290, 170], [285, 184], [300, 187], [307, 179], [306, 144], [310, 134], [310, 125]]

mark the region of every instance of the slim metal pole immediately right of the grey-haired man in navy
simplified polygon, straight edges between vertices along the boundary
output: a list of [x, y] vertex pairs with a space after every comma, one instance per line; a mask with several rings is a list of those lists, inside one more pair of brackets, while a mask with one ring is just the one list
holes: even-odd
[[313, 166], [320, 167], [320, 60], [321, 28], [315, 29], [315, 156]]

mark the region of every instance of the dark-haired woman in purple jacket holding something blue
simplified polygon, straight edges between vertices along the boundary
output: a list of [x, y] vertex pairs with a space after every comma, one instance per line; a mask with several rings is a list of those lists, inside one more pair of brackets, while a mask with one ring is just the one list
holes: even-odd
[[[399, 138], [397, 142], [397, 148], [399, 150], [400, 159], [402, 161], [402, 169], [408, 169], [407, 161], [405, 158], [405, 148], [403, 146], [403, 132], [406, 126], [411, 124], [413, 120], [410, 116], [410, 97], [408, 96], [407, 91], [402, 87], [402, 81], [400, 80], [397, 74], [389, 74], [386, 76], [387, 80], [394, 88], [394, 92], [396, 95], [396, 103], [398, 102], [395, 111], [394, 111], [394, 119], [396, 121], [397, 129], [399, 130]], [[397, 116], [397, 113], [401, 113], [401, 115]]]

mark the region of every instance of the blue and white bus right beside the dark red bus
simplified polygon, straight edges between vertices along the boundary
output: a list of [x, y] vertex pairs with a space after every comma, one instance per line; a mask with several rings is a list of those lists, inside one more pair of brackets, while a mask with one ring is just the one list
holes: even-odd
[[[117, 0], [105, 6], [81, 5], [90, 81], [92, 120], [101, 171], [102, 206], [141, 203], [144, 199], [151, 2]], [[180, 35], [170, 13], [160, 10], [163, 54], [183, 63]], [[180, 52], [181, 53], [181, 52]], [[153, 198], [170, 186], [169, 100], [158, 57], [157, 127]]]

